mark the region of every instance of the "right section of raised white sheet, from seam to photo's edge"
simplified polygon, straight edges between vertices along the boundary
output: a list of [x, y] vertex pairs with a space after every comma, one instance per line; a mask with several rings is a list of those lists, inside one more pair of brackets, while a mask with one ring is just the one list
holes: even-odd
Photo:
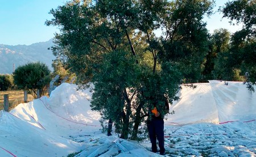
[[256, 119], [256, 94], [242, 82], [210, 80], [221, 123]]

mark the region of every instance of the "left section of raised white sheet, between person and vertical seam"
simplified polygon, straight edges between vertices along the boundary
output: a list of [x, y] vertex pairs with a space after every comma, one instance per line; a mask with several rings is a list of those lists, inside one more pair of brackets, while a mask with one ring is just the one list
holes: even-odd
[[181, 86], [180, 99], [174, 101], [166, 124], [185, 125], [199, 122], [218, 124], [218, 110], [209, 83], [196, 83], [196, 88]]

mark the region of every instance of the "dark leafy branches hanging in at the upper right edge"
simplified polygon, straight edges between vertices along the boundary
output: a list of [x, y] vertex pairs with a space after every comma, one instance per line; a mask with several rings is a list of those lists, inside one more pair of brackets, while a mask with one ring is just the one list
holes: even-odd
[[254, 90], [251, 85], [256, 81], [256, 1], [230, 1], [220, 11], [230, 19], [230, 23], [235, 20], [243, 24], [243, 28], [231, 37], [230, 49], [223, 56], [226, 60], [224, 65], [230, 71], [238, 70], [242, 73], [248, 87]]

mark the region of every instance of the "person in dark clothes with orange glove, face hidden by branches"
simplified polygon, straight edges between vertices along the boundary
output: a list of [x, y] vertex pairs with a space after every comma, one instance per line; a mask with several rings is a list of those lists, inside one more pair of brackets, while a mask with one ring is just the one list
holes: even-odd
[[[164, 112], [169, 112], [168, 100], [164, 97], [165, 107]], [[160, 110], [156, 108], [156, 103], [153, 104], [154, 108], [149, 111], [149, 117], [147, 122], [148, 134], [151, 142], [152, 152], [158, 152], [156, 139], [158, 140], [159, 154], [165, 154], [164, 148], [164, 115], [160, 114]]]

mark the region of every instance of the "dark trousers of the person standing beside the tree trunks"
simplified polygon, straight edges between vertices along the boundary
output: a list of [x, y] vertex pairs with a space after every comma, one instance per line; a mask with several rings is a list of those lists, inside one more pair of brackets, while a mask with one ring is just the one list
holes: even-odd
[[164, 149], [164, 121], [162, 118], [152, 119], [147, 124], [148, 134], [152, 145], [152, 152], [157, 152], [156, 138], [158, 139], [159, 152], [163, 153]]

